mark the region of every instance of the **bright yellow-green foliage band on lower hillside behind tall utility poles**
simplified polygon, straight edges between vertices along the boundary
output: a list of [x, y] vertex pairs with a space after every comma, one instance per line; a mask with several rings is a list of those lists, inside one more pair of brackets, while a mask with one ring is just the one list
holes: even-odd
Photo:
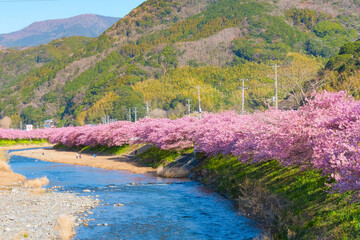
[[[290, 53], [289, 61], [279, 74], [284, 90], [279, 90], [280, 98], [287, 92], [299, 91], [290, 79], [296, 83], [305, 82], [314, 77], [322, 64], [319, 59]], [[201, 104], [205, 111], [238, 109], [241, 105], [240, 79], [248, 79], [245, 86], [246, 107], [248, 111], [265, 108], [265, 101], [273, 96], [274, 70], [271, 66], [247, 62], [233, 67], [206, 66], [199, 68], [183, 67], [170, 71], [159, 79], [138, 82], [133, 88], [144, 95], [144, 100], [152, 107], [170, 106], [182, 96], [197, 103], [197, 89], [201, 89]], [[283, 80], [283, 82], [281, 82]]]

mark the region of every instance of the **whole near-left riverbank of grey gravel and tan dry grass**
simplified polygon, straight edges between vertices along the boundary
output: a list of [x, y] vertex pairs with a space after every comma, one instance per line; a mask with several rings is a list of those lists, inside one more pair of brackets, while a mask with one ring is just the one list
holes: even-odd
[[[24, 146], [10, 147], [15, 148]], [[2, 150], [0, 148], [0, 239], [68, 240], [74, 228], [89, 221], [84, 218], [84, 212], [89, 213], [99, 200], [41, 189], [41, 184], [34, 184], [38, 180], [28, 181], [13, 172]]]

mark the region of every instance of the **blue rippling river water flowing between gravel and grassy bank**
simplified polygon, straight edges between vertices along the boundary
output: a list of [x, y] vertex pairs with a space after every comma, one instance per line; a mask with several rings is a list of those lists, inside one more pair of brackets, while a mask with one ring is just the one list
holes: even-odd
[[[198, 182], [19, 156], [12, 156], [10, 165], [28, 179], [47, 176], [46, 187], [104, 201], [89, 215], [95, 221], [77, 228], [75, 239], [241, 240], [260, 233], [229, 200]], [[114, 206], [119, 203], [123, 206]]]

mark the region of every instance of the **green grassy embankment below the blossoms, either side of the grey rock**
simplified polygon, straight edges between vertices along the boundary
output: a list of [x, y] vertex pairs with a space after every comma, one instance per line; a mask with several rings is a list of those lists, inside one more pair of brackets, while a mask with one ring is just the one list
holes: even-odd
[[[157, 167], [180, 155], [151, 148], [138, 159]], [[351, 192], [330, 194], [320, 172], [275, 160], [249, 165], [232, 156], [198, 156], [193, 177], [235, 200], [274, 239], [360, 239], [360, 203], [348, 201]]]

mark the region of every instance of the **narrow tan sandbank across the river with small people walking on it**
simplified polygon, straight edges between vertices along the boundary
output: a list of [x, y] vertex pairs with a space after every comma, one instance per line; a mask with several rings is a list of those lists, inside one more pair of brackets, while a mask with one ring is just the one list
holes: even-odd
[[154, 173], [151, 167], [142, 167], [131, 157], [127, 156], [96, 156], [81, 154], [81, 159], [76, 158], [76, 152], [55, 149], [34, 149], [13, 152], [13, 155], [36, 158], [48, 162], [66, 163], [81, 166], [104, 168], [108, 170], [124, 170], [133, 173]]

